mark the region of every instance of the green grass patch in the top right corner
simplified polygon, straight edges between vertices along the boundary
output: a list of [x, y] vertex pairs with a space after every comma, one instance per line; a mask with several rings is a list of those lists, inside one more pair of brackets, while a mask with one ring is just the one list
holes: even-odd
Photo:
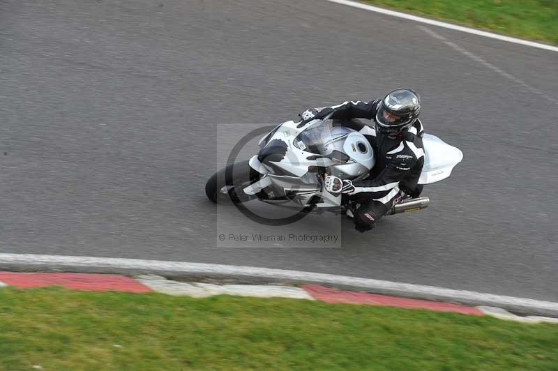
[[406, 13], [558, 44], [557, 0], [368, 0]]

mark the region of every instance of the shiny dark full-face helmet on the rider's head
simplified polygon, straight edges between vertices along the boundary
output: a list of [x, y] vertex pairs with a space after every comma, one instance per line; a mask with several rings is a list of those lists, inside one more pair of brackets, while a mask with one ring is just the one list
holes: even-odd
[[396, 89], [388, 93], [378, 105], [376, 128], [395, 133], [412, 126], [421, 112], [421, 98], [412, 90]]

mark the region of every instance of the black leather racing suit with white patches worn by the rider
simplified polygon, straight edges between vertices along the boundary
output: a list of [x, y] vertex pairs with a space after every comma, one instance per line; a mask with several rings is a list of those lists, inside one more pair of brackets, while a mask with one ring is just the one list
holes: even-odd
[[421, 186], [417, 185], [424, 165], [424, 130], [420, 120], [398, 135], [386, 135], [370, 126], [350, 121], [356, 118], [374, 120], [380, 101], [345, 102], [319, 109], [322, 117], [333, 110], [332, 119], [342, 119], [343, 126], [361, 132], [374, 149], [376, 163], [370, 176], [354, 182], [355, 192], [349, 196], [361, 204], [354, 213], [356, 229], [361, 232], [374, 228], [377, 220], [400, 201], [403, 192], [416, 197], [421, 191]]

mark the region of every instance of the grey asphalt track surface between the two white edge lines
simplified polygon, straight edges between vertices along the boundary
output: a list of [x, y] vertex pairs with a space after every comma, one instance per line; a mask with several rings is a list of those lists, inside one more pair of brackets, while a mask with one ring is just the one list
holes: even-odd
[[[359, 234], [333, 216], [253, 226], [206, 200], [216, 162], [254, 128], [245, 123], [397, 86], [421, 93], [426, 131], [465, 154], [425, 189], [425, 211]], [[241, 264], [557, 301], [557, 117], [557, 53], [326, 1], [2, 1], [0, 252]], [[336, 226], [338, 248], [217, 239]]]

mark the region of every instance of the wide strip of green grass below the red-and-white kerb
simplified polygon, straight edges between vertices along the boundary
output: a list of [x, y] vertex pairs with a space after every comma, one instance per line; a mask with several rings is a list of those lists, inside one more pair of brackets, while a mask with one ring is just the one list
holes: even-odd
[[292, 299], [0, 289], [0, 370], [33, 365], [56, 371], [558, 370], [558, 326]]

